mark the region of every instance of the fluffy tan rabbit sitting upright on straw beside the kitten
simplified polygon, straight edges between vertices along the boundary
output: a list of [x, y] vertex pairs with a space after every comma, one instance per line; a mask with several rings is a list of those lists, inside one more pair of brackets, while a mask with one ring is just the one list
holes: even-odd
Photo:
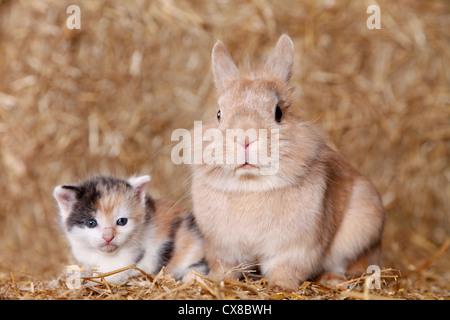
[[[384, 224], [372, 183], [292, 113], [293, 57], [293, 42], [282, 35], [264, 64], [240, 70], [224, 44], [216, 43], [217, 120], [203, 129], [225, 136], [230, 129], [253, 128], [258, 135], [236, 135], [234, 148], [225, 144], [228, 138], [209, 139], [203, 152], [244, 156], [191, 166], [194, 215], [211, 272], [257, 263], [269, 285], [291, 290], [323, 272], [362, 273], [379, 265]], [[271, 149], [275, 143], [278, 150]], [[268, 163], [263, 154], [250, 161], [263, 147], [277, 156], [272, 174], [262, 174]]]

